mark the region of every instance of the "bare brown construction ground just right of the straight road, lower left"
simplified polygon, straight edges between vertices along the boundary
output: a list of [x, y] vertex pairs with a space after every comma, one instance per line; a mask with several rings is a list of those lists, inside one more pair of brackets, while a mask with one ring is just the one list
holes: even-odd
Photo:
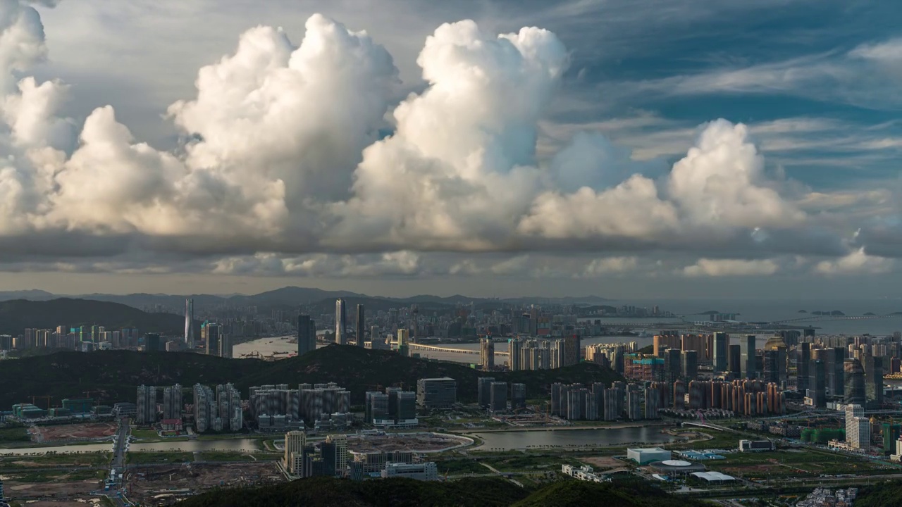
[[141, 505], [172, 501], [218, 487], [245, 487], [285, 481], [275, 462], [136, 466], [124, 475], [126, 495]]

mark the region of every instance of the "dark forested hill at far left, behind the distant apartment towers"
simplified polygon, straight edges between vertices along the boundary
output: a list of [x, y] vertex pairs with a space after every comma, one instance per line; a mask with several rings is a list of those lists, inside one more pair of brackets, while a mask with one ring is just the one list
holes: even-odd
[[0, 302], [0, 334], [18, 336], [26, 327], [104, 326], [110, 330], [137, 327], [141, 332], [177, 333], [185, 318], [170, 313], [146, 313], [119, 303], [95, 300], [9, 300]]

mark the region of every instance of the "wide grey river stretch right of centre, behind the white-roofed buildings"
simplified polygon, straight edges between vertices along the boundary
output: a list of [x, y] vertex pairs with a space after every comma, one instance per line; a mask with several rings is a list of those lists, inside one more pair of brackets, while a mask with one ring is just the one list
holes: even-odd
[[660, 426], [604, 429], [542, 429], [538, 431], [486, 431], [473, 435], [483, 440], [480, 449], [504, 450], [529, 447], [603, 447], [640, 442], [654, 445], [673, 442], [676, 437], [661, 433]]

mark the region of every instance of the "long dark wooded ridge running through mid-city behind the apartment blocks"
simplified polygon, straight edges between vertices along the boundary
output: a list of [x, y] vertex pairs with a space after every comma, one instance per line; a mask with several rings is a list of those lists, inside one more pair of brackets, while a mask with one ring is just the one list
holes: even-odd
[[[456, 379], [458, 399], [475, 401], [476, 378], [483, 373], [463, 364], [402, 357], [384, 350], [356, 346], [327, 346], [302, 357], [275, 362], [225, 359], [193, 353], [124, 350], [89, 354], [60, 352], [5, 361], [0, 367], [0, 407], [51, 396], [53, 404], [77, 398], [85, 392], [105, 403], [133, 401], [138, 385], [189, 387], [195, 383], [235, 383], [248, 395], [253, 385], [335, 382], [351, 391], [354, 404], [364, 402], [364, 392], [398, 385], [416, 390], [419, 378], [448, 376]], [[551, 383], [611, 383], [621, 376], [609, 368], [583, 363], [557, 370], [492, 373], [498, 381], [525, 383], [529, 397], [548, 395]], [[39, 406], [42, 403], [39, 402]]]

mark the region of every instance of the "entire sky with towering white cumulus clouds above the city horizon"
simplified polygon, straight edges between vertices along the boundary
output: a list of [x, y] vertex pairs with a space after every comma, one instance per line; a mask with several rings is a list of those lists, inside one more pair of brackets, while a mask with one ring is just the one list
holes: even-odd
[[0, 290], [897, 298], [902, 10], [0, 0]]

